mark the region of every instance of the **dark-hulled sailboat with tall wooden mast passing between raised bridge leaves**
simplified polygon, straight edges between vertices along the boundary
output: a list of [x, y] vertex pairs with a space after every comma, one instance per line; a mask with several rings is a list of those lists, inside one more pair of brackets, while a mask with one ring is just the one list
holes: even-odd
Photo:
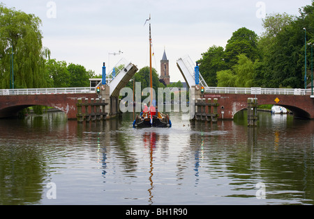
[[171, 127], [172, 124], [169, 115], [158, 112], [153, 106], [153, 76], [151, 71], [151, 15], [149, 15], [149, 19], [147, 19], [146, 22], [147, 21], [149, 21], [149, 77], [151, 82], [151, 106], [147, 111], [141, 113], [140, 116], [136, 115], [136, 118], [133, 121], [133, 127]]

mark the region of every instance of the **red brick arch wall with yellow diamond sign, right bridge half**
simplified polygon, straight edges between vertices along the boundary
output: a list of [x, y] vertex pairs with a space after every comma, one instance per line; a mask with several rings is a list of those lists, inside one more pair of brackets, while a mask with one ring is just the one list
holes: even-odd
[[[224, 111], [224, 119], [233, 119], [234, 115], [248, 106], [249, 97], [255, 95], [244, 94], [206, 94], [205, 98], [218, 99], [218, 114]], [[292, 111], [294, 117], [314, 119], [314, 99], [309, 95], [256, 95], [257, 104], [276, 104]], [[276, 103], [275, 99], [279, 102]]]

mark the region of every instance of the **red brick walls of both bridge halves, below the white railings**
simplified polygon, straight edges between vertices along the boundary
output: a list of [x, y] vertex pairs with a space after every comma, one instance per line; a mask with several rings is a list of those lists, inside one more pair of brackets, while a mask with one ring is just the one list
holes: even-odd
[[[207, 94], [207, 98], [218, 99], [218, 114], [224, 111], [224, 119], [232, 119], [234, 114], [246, 108], [248, 97], [255, 95], [234, 94]], [[257, 103], [276, 104], [274, 99], [280, 100], [278, 105], [290, 109], [297, 117], [309, 117], [314, 119], [314, 99], [308, 95], [256, 95]], [[77, 114], [77, 98], [97, 98], [96, 94], [65, 94], [65, 95], [17, 95], [0, 96], [0, 117], [17, 115], [17, 112], [28, 106], [42, 105], [52, 106], [66, 113], [68, 119], [75, 119]], [[222, 108], [223, 107], [223, 108]]]

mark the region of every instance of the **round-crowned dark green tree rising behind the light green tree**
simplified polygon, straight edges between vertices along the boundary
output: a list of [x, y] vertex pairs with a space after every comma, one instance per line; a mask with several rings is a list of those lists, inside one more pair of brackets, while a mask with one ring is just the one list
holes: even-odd
[[239, 56], [239, 54], [244, 54], [253, 62], [257, 58], [260, 58], [260, 54], [257, 50], [257, 40], [257, 34], [245, 27], [232, 33], [232, 37], [227, 41], [225, 46], [225, 61], [227, 67], [231, 68], [237, 64], [237, 56]]

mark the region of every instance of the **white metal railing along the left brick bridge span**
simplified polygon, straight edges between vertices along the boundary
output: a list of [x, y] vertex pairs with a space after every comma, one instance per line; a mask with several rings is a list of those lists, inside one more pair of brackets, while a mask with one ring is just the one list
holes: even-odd
[[95, 92], [95, 88], [30, 88], [30, 89], [3, 89], [1, 95], [61, 95], [84, 94]]

